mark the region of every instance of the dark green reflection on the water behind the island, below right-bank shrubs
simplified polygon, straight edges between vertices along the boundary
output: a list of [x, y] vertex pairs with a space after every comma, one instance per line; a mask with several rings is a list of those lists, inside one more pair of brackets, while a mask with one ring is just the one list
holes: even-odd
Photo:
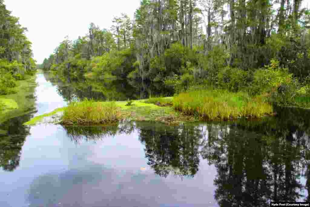
[[83, 76], [70, 77], [45, 73], [45, 78], [58, 88], [60, 96], [67, 101], [79, 99], [117, 100], [143, 99], [149, 95], [167, 94], [172, 90], [160, 84], [137, 82], [128, 79], [85, 79]]

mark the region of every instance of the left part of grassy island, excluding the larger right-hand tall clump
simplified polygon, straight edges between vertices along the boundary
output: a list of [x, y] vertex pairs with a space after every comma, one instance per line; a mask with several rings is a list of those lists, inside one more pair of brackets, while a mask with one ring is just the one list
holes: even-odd
[[[25, 124], [37, 124], [43, 118], [50, 117], [59, 111], [64, 112], [60, 118], [60, 124], [63, 125], [101, 125], [118, 120], [160, 121], [166, 124], [197, 121], [195, 117], [183, 115], [181, 112], [175, 111], [172, 107], [157, 106], [145, 103], [144, 101], [146, 100], [135, 100], [131, 106], [126, 106], [127, 101], [95, 102], [93, 100], [84, 100], [82, 102], [72, 103], [64, 108], [56, 109], [51, 113], [34, 117]], [[98, 113], [98, 111], [101, 112]], [[51, 119], [51, 121], [43, 120], [44, 122], [54, 121]]]

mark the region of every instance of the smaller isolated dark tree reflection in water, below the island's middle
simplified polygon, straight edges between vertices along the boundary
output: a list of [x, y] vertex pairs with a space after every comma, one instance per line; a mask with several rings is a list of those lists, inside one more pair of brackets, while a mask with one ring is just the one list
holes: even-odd
[[199, 166], [202, 131], [196, 126], [167, 127], [163, 124], [137, 123], [139, 140], [145, 144], [148, 165], [160, 176], [171, 172], [194, 177]]

